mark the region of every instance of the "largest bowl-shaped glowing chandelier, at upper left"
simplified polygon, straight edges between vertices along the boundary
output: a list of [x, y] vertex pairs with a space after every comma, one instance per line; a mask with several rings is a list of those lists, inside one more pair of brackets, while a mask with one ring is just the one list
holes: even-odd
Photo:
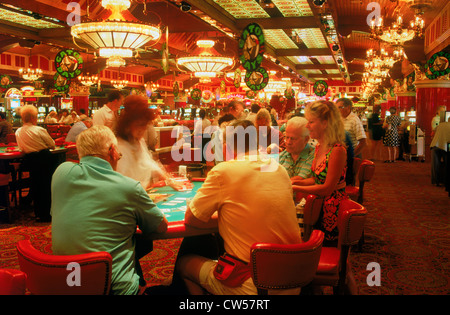
[[125, 20], [121, 12], [130, 7], [130, 0], [102, 0], [101, 4], [111, 10], [109, 18], [73, 25], [71, 35], [98, 49], [100, 57], [108, 58], [108, 66], [125, 65], [123, 58], [132, 57], [134, 49], [160, 38], [157, 26]]

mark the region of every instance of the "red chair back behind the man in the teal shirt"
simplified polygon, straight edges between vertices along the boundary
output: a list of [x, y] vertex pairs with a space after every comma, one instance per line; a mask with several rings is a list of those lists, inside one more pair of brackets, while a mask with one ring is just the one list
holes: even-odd
[[[49, 255], [38, 251], [29, 240], [17, 243], [20, 270], [27, 274], [27, 288], [36, 295], [106, 295], [111, 287], [112, 258], [107, 252], [80, 255]], [[76, 269], [69, 263], [78, 263]], [[72, 274], [73, 272], [73, 274]], [[80, 276], [80, 285], [68, 279]]]

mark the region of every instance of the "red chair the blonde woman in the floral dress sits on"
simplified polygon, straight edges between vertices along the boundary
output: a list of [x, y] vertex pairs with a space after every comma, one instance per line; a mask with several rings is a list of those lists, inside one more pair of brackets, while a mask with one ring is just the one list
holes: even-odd
[[350, 247], [358, 243], [364, 229], [367, 210], [357, 202], [346, 199], [341, 202], [338, 214], [339, 238], [337, 247], [322, 247], [319, 266], [313, 285], [332, 286], [334, 294], [344, 294], [350, 266]]

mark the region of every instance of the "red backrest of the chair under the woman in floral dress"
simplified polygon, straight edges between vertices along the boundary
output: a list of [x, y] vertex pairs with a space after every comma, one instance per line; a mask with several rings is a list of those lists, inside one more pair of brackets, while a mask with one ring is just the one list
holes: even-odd
[[338, 247], [342, 245], [351, 246], [359, 242], [364, 230], [366, 216], [367, 210], [361, 204], [351, 199], [341, 201], [338, 215]]

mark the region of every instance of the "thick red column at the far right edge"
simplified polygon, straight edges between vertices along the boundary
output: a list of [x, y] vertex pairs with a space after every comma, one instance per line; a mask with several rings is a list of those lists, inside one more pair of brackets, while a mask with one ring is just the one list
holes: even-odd
[[416, 81], [416, 122], [425, 131], [425, 156], [429, 161], [431, 143], [431, 120], [439, 106], [447, 106], [450, 110], [450, 81], [423, 80]]

